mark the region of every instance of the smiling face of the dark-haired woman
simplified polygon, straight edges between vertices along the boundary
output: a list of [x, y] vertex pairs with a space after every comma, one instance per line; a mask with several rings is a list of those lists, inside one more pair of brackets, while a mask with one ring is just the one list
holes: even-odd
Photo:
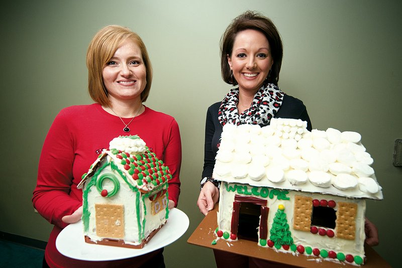
[[228, 55], [230, 69], [239, 90], [255, 94], [273, 64], [269, 43], [259, 31], [247, 29], [237, 34], [232, 55]]

